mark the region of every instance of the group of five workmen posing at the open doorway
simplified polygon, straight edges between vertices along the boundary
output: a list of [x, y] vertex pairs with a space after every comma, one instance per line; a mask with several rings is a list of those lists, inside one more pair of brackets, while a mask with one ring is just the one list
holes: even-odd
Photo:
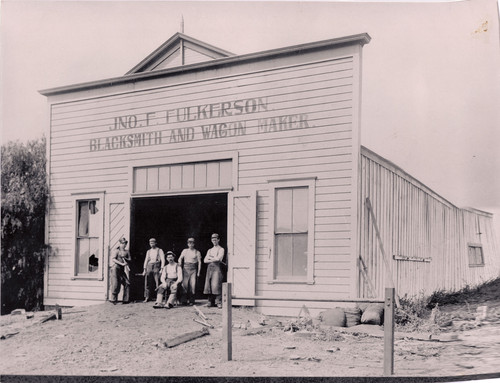
[[[222, 269], [221, 262], [224, 259], [224, 248], [219, 245], [219, 235], [212, 234], [213, 247], [207, 251], [203, 262], [207, 264], [207, 273], [203, 293], [208, 296], [209, 307], [221, 308], [222, 297]], [[121, 238], [119, 246], [115, 249], [111, 258], [111, 302], [116, 304], [120, 288], [123, 285], [122, 303], [129, 303], [130, 281], [128, 278], [130, 253], [126, 250], [127, 240]], [[156, 239], [149, 240], [150, 249], [144, 259], [142, 275], [144, 276], [144, 302], [156, 300], [154, 308], [170, 309], [178, 302], [179, 286], [182, 286], [183, 294], [181, 303], [194, 305], [196, 295], [196, 282], [200, 277], [202, 257], [195, 249], [194, 238], [188, 238], [187, 248], [182, 250], [178, 262], [175, 254], [167, 251], [165, 254], [157, 246]], [[154, 297], [156, 294], [156, 297]], [[166, 299], [166, 301], [165, 301]]]

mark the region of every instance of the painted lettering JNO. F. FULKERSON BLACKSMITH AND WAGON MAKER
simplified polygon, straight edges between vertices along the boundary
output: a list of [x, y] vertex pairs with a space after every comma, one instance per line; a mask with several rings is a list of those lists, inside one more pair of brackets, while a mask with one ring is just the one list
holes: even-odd
[[[163, 111], [149, 111], [142, 114], [124, 114], [113, 118], [110, 131], [123, 132], [135, 129], [134, 133], [110, 137], [92, 138], [90, 151], [130, 149], [142, 146], [175, 144], [195, 140], [212, 140], [282, 132], [311, 127], [308, 115], [288, 114], [282, 116], [231, 120], [231, 117], [269, 112], [267, 97], [225, 101], [213, 104], [186, 106]], [[224, 122], [206, 121], [196, 125], [196, 121], [226, 118]], [[137, 129], [156, 125], [194, 122], [195, 126], [175, 127], [163, 130], [139, 132]]]

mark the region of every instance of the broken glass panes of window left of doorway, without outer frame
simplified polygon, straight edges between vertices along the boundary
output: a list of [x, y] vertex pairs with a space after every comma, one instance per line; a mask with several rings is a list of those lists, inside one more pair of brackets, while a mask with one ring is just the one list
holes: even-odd
[[99, 276], [102, 212], [99, 200], [78, 200], [76, 216], [75, 275]]

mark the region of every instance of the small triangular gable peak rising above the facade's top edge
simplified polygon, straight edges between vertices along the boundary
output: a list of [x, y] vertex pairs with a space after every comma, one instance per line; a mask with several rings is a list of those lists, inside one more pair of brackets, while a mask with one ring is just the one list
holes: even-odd
[[230, 56], [234, 54], [177, 32], [126, 74], [151, 72]]

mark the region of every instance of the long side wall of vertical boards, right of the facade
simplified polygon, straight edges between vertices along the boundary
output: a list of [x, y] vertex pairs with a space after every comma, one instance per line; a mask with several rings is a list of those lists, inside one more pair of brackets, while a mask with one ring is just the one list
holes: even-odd
[[[438, 289], [458, 290], [499, 276], [491, 214], [457, 208], [389, 161], [366, 148], [361, 153], [360, 255], [375, 291], [370, 291], [360, 270], [360, 296], [383, 296], [391, 278], [400, 297], [412, 297]], [[469, 243], [482, 244], [484, 266], [469, 266]]]

